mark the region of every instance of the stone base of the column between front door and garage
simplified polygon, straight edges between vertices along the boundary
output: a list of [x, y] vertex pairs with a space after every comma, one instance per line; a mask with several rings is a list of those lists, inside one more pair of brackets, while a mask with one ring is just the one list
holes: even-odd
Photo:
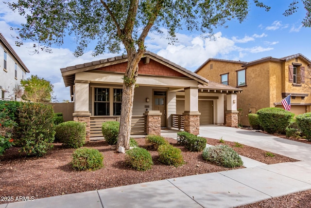
[[200, 115], [198, 111], [184, 112], [184, 131], [198, 135], [200, 133]]

